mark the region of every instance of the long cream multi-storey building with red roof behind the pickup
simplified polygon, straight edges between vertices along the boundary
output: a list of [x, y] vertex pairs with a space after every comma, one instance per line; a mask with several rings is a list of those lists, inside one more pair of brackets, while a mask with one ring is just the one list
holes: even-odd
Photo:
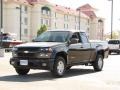
[[[103, 39], [104, 19], [95, 15], [89, 4], [73, 10], [47, 0], [4, 0], [4, 32], [17, 39], [32, 40], [41, 25], [48, 29], [82, 29], [90, 39]], [[85, 10], [86, 9], [86, 10]]]

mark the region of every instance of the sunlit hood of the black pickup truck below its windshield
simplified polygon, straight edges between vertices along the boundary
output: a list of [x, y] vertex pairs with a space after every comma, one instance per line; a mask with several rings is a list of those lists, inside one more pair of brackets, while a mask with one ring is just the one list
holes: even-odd
[[56, 45], [61, 45], [60, 42], [31, 42], [17, 45], [16, 47], [52, 47]]

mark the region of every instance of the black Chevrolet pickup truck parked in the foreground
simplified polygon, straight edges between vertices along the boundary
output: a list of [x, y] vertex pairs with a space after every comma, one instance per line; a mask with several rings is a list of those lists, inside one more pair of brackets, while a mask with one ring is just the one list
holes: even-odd
[[33, 42], [15, 46], [12, 56], [10, 64], [19, 75], [45, 69], [57, 77], [74, 65], [91, 65], [101, 71], [106, 57], [102, 45], [90, 43], [79, 30], [48, 30]]

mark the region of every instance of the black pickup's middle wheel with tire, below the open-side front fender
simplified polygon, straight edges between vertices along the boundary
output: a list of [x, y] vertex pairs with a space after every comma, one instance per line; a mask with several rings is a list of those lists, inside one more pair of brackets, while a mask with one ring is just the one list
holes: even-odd
[[58, 56], [55, 60], [53, 70], [51, 71], [53, 76], [62, 77], [65, 72], [65, 59], [61, 56]]

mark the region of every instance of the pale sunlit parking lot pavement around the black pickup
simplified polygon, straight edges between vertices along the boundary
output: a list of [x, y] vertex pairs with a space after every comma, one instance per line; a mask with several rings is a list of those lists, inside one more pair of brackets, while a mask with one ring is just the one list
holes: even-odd
[[74, 66], [62, 78], [49, 71], [31, 70], [18, 76], [9, 64], [11, 53], [0, 57], [0, 90], [120, 90], [120, 55], [110, 55], [101, 72], [91, 66]]

